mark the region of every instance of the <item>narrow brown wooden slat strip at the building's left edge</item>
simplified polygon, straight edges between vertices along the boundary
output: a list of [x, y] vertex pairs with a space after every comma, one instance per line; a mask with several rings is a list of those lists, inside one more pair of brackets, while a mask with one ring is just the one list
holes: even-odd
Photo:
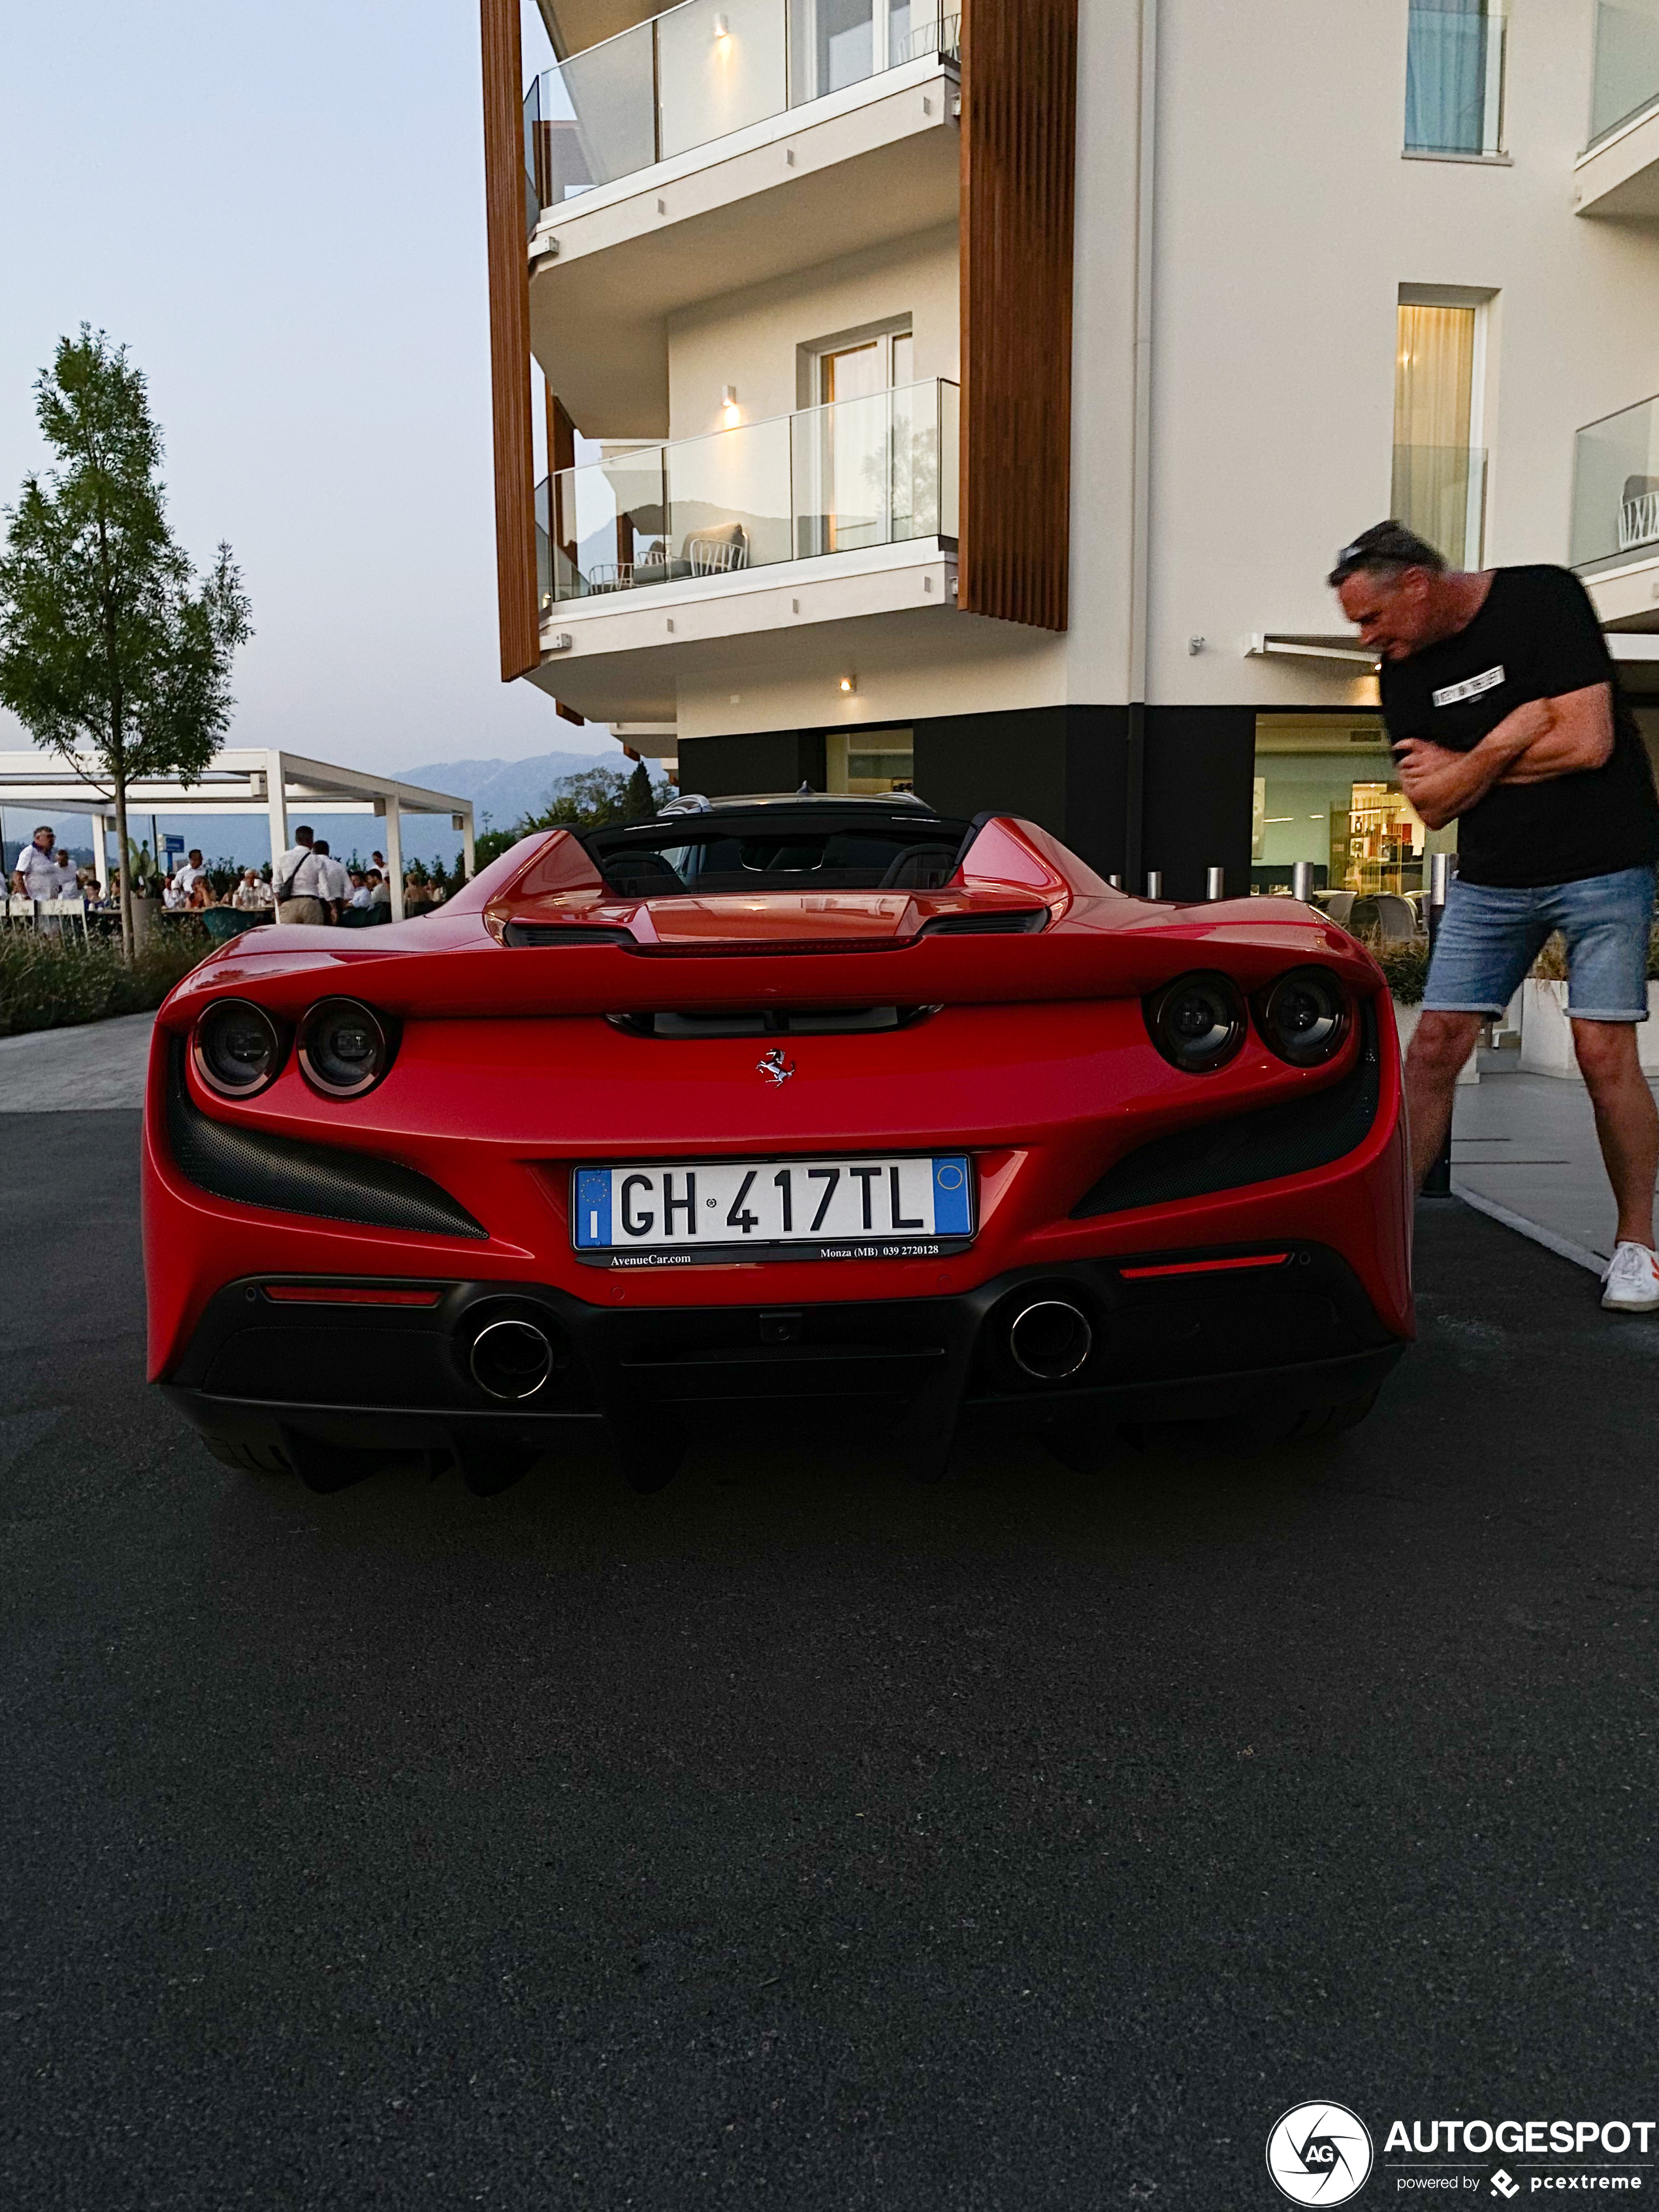
[[489, 380], [495, 420], [495, 591], [502, 622], [502, 684], [511, 684], [542, 659], [535, 608], [531, 276], [524, 250], [524, 60], [518, 0], [480, 0], [480, 24]]

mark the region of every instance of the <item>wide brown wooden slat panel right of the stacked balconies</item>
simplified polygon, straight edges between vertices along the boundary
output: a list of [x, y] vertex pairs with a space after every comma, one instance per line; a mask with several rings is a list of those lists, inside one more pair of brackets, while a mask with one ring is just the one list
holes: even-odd
[[1077, 0], [962, 0], [958, 604], [1066, 628]]

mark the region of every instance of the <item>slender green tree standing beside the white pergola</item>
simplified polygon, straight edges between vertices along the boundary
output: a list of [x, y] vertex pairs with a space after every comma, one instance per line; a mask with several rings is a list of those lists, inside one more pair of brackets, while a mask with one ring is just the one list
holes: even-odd
[[[230, 659], [250, 630], [221, 544], [201, 580], [166, 520], [161, 431], [126, 347], [82, 323], [35, 380], [58, 467], [27, 476], [0, 555], [0, 706], [38, 745], [108, 785], [119, 849], [126, 787], [195, 781], [230, 726]], [[133, 872], [122, 869], [133, 956]]]

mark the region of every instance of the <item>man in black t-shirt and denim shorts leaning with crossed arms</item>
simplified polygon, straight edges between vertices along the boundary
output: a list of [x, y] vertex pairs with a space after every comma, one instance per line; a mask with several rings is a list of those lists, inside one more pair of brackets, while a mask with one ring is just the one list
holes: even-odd
[[1343, 546], [1329, 582], [1383, 659], [1405, 796], [1431, 830], [1458, 823], [1458, 876], [1405, 1066], [1418, 1183], [1482, 1020], [1504, 1011], [1559, 929], [1573, 1048], [1619, 1201], [1601, 1303], [1650, 1312], [1659, 1115], [1635, 1024], [1648, 1020], [1659, 799], [1588, 593], [1566, 568], [1447, 571], [1398, 522]]

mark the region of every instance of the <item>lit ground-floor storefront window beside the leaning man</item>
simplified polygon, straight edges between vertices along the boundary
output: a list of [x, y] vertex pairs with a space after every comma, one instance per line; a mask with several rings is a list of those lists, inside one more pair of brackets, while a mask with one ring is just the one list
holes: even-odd
[[1296, 860], [1323, 891], [1418, 891], [1427, 836], [1380, 719], [1256, 717], [1252, 891], [1287, 889]]

